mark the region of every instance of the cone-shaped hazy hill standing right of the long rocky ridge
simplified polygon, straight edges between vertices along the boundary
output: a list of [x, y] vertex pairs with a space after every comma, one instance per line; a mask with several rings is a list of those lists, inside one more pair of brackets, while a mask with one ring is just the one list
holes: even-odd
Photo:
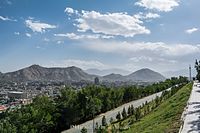
[[165, 80], [165, 77], [158, 72], [144, 68], [125, 76], [125, 79], [132, 81], [157, 82]]

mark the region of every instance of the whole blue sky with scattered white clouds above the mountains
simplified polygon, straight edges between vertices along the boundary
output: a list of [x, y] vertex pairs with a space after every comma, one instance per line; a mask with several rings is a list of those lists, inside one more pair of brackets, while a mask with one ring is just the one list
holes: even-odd
[[31, 64], [158, 72], [200, 59], [199, 0], [1, 0], [0, 71]]

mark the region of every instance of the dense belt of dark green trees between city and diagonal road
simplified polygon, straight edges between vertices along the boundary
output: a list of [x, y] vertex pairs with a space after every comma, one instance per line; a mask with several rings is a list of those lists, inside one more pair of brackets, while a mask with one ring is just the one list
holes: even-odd
[[[50, 133], [61, 132], [71, 125], [77, 125], [94, 116], [111, 110], [119, 105], [162, 91], [175, 84], [187, 82], [184, 77], [167, 79], [146, 87], [125, 86], [107, 88], [87, 86], [79, 91], [72, 88], [61, 90], [56, 98], [37, 96], [33, 103], [15, 111], [7, 110], [0, 114], [1, 133]], [[129, 113], [136, 112], [140, 119], [141, 112], [130, 107]], [[118, 119], [127, 117], [127, 112]], [[105, 120], [104, 120], [105, 122]], [[105, 123], [106, 125], [106, 123]], [[123, 125], [121, 125], [123, 126]], [[99, 127], [98, 132], [104, 131]], [[85, 130], [83, 129], [83, 132]]]

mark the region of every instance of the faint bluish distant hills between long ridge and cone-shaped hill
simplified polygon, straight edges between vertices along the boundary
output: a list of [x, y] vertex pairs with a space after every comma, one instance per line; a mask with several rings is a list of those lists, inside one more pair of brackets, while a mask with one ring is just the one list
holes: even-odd
[[117, 68], [113, 68], [113, 69], [104, 69], [104, 70], [99, 70], [99, 69], [87, 69], [85, 70], [86, 73], [89, 74], [94, 74], [94, 75], [99, 75], [99, 76], [105, 76], [105, 75], [109, 75], [111, 73], [114, 74], [121, 74], [121, 75], [127, 75], [130, 74], [130, 71], [126, 71], [123, 69], [117, 69]]

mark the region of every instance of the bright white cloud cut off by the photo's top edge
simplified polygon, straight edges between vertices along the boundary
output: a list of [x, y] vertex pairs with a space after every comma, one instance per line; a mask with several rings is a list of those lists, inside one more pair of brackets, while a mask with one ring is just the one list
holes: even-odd
[[146, 9], [169, 12], [179, 6], [179, 0], [139, 0], [135, 5]]

